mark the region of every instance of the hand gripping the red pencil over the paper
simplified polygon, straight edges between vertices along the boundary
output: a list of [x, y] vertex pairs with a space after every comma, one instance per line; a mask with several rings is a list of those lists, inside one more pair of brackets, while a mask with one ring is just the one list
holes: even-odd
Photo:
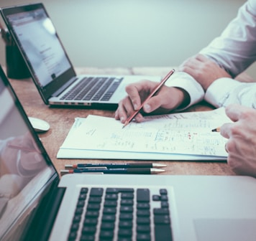
[[[127, 96], [119, 102], [116, 109], [115, 118], [124, 123], [134, 110], [138, 110], [143, 101], [155, 89], [159, 82], [142, 80], [137, 83], [127, 85]], [[152, 96], [143, 106], [145, 113], [168, 113], [170, 110], [178, 108], [180, 105], [186, 105], [189, 101], [188, 93], [179, 88], [167, 87], [163, 85], [157, 95]], [[137, 122], [143, 121], [142, 113], [135, 117]]]

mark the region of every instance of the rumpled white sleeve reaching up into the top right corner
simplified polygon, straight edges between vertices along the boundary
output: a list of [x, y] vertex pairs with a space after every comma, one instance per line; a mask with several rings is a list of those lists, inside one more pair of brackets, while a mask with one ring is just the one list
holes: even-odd
[[219, 37], [201, 50], [229, 75], [236, 77], [256, 60], [256, 1], [243, 4]]

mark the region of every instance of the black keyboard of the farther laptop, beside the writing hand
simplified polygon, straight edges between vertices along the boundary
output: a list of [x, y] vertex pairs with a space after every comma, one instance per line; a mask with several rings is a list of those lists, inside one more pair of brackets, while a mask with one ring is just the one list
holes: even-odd
[[61, 100], [109, 100], [124, 78], [84, 77]]

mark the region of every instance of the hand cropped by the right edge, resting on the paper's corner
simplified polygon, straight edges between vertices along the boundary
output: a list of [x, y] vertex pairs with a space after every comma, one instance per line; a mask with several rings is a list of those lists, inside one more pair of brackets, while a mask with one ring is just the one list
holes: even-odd
[[256, 177], [256, 110], [232, 104], [226, 113], [234, 121], [221, 126], [221, 135], [229, 138], [227, 162], [235, 173]]

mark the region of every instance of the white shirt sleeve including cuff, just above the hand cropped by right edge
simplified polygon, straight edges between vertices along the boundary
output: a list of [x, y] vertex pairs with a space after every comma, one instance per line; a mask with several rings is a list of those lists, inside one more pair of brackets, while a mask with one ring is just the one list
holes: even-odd
[[256, 82], [239, 82], [222, 77], [206, 91], [205, 100], [216, 108], [237, 103], [256, 109]]

